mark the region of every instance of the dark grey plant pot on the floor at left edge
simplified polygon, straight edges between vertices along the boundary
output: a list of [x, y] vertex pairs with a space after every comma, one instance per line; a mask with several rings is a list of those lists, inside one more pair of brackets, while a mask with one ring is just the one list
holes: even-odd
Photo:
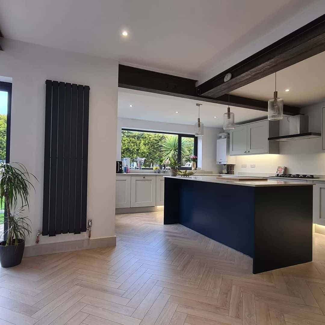
[[2, 267], [12, 267], [21, 263], [25, 240], [19, 239], [18, 242], [17, 246], [6, 246], [6, 241], [0, 242], [0, 264]]

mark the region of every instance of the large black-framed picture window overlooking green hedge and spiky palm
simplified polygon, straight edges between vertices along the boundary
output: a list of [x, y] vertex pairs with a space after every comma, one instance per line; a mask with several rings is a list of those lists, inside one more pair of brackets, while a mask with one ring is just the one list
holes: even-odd
[[173, 157], [180, 169], [191, 169], [190, 156], [197, 156], [197, 137], [188, 134], [122, 129], [121, 157], [130, 158], [137, 169], [137, 157], [145, 158], [142, 169], [152, 169]]

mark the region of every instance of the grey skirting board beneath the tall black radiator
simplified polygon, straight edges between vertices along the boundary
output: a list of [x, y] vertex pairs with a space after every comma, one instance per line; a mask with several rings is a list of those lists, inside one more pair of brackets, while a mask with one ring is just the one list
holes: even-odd
[[81, 251], [84, 249], [101, 248], [109, 246], [116, 246], [116, 236], [26, 246], [24, 251], [24, 257]]

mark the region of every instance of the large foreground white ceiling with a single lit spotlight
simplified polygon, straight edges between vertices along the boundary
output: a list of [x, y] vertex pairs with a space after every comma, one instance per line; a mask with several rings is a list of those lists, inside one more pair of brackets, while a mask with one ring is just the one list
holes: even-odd
[[0, 29], [7, 38], [196, 79], [211, 59], [220, 63], [314, 2], [0, 0]]

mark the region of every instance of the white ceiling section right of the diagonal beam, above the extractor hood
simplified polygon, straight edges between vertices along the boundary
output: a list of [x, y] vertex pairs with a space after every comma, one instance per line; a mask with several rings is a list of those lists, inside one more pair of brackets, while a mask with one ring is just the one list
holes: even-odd
[[[325, 98], [325, 52], [277, 72], [278, 96], [287, 105], [304, 107]], [[275, 75], [254, 81], [231, 92], [233, 95], [268, 100], [273, 97]], [[290, 89], [285, 92], [285, 89]]]

